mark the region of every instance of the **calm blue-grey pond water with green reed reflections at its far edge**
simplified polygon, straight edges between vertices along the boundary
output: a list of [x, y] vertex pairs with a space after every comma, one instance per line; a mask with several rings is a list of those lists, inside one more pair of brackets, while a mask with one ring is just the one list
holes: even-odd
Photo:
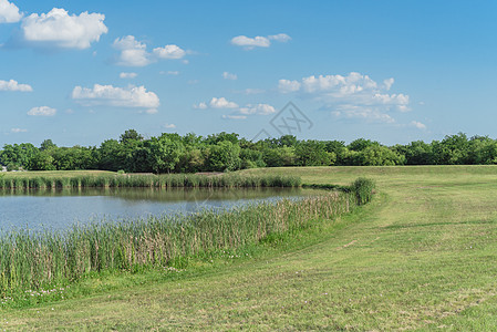
[[0, 231], [14, 228], [65, 229], [74, 224], [227, 209], [315, 193], [301, 188], [157, 189], [73, 188], [0, 190]]

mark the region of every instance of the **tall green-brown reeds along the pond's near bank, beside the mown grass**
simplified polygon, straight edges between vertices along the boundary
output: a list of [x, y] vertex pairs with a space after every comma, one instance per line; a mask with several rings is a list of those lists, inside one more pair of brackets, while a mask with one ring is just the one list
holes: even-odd
[[354, 206], [353, 194], [332, 191], [224, 212], [99, 222], [68, 231], [10, 231], [0, 236], [0, 295], [68, 284], [91, 272], [167, 267], [203, 252], [242, 248]]

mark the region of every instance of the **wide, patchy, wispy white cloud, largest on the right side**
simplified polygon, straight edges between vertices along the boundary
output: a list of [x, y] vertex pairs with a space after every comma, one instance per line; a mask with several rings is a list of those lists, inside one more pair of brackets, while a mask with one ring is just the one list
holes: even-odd
[[332, 110], [342, 117], [367, 118], [391, 123], [389, 112], [407, 112], [410, 96], [404, 93], [389, 93], [394, 79], [381, 83], [369, 75], [351, 72], [348, 75], [311, 75], [301, 80], [279, 80], [281, 93], [297, 93], [323, 104], [322, 108]]

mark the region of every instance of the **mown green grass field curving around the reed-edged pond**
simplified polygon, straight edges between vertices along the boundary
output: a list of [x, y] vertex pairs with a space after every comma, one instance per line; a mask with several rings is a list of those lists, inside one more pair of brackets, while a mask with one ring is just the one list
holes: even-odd
[[497, 329], [497, 167], [247, 173], [340, 185], [365, 176], [379, 195], [252, 258], [89, 279], [69, 299], [1, 310], [0, 329]]

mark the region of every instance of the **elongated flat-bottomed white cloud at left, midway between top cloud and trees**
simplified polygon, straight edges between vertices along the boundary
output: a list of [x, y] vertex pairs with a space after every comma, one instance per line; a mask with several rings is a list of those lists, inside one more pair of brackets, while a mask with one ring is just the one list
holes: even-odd
[[145, 86], [114, 87], [95, 84], [92, 89], [75, 86], [72, 98], [84, 106], [106, 105], [115, 107], [147, 108], [148, 114], [157, 113], [159, 98]]

